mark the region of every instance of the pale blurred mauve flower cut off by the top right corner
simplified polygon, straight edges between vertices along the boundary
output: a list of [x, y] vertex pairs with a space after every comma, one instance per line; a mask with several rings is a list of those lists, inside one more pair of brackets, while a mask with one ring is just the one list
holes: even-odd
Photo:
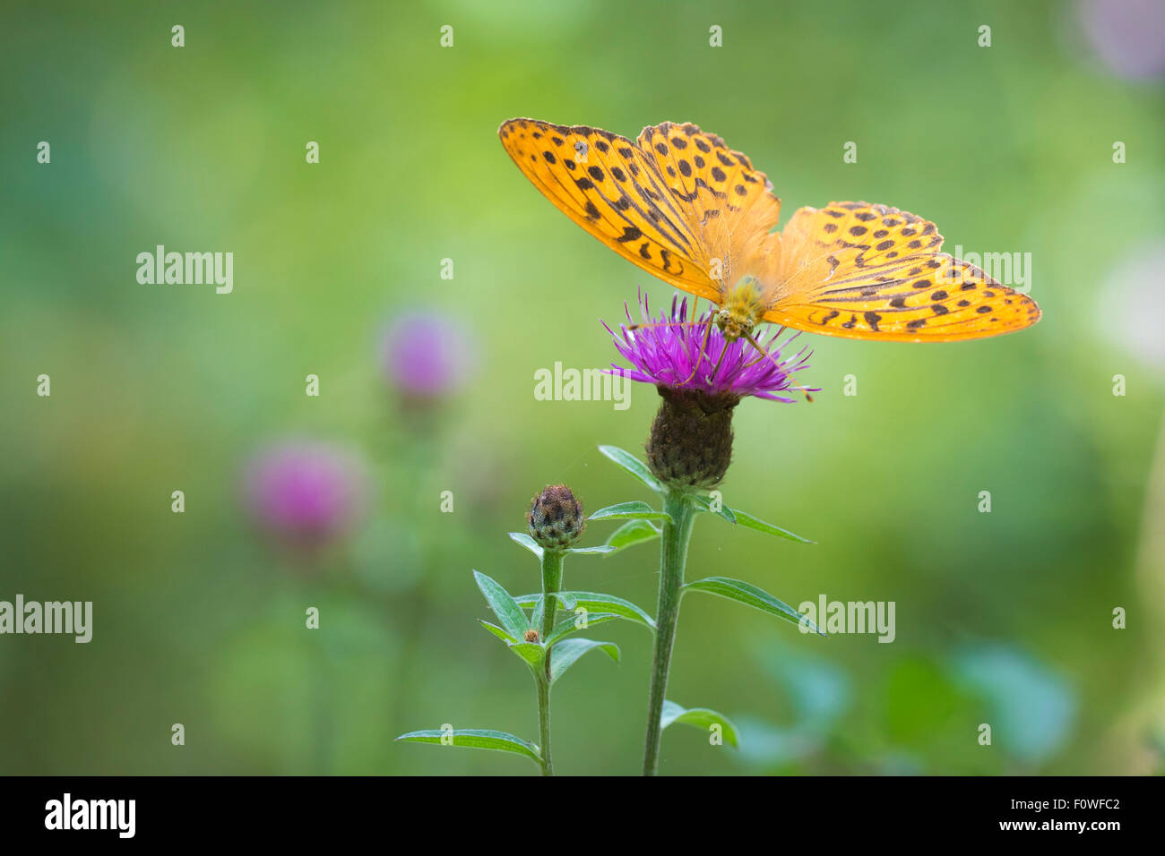
[[1130, 79], [1165, 75], [1162, 0], [1080, 0], [1085, 37], [1104, 64]]

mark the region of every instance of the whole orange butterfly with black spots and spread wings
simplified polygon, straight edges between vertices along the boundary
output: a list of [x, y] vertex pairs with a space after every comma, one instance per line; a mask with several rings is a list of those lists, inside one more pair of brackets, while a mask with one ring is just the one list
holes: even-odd
[[867, 203], [799, 208], [714, 134], [663, 122], [609, 130], [510, 119], [497, 130], [525, 177], [644, 270], [716, 304], [728, 341], [761, 321], [849, 339], [956, 341], [1039, 320], [1025, 295], [940, 253], [915, 214]]

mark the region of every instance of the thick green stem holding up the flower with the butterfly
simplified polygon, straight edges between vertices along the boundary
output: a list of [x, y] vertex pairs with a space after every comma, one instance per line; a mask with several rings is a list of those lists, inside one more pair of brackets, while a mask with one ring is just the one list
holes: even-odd
[[668, 519], [659, 540], [659, 603], [656, 609], [655, 657], [651, 660], [651, 695], [648, 700], [648, 736], [643, 752], [644, 776], [655, 776], [659, 769], [659, 740], [663, 735], [659, 720], [668, 694], [668, 670], [676, 642], [680, 588], [684, 585], [687, 543], [696, 521], [696, 503], [687, 494], [671, 490], [664, 497], [663, 510]]

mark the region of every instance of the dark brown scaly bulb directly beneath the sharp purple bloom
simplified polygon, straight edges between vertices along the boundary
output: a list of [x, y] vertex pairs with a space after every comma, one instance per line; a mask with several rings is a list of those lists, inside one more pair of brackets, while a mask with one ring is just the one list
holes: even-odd
[[663, 401], [647, 446], [651, 472], [669, 487], [715, 487], [732, 462], [732, 413], [740, 396], [657, 389]]

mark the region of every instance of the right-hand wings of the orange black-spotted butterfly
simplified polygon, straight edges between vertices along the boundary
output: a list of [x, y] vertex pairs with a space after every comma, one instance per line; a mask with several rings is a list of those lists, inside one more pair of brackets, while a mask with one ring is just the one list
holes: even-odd
[[941, 253], [933, 222], [867, 203], [799, 208], [764, 320], [826, 335], [958, 341], [1039, 320], [1025, 295]]

